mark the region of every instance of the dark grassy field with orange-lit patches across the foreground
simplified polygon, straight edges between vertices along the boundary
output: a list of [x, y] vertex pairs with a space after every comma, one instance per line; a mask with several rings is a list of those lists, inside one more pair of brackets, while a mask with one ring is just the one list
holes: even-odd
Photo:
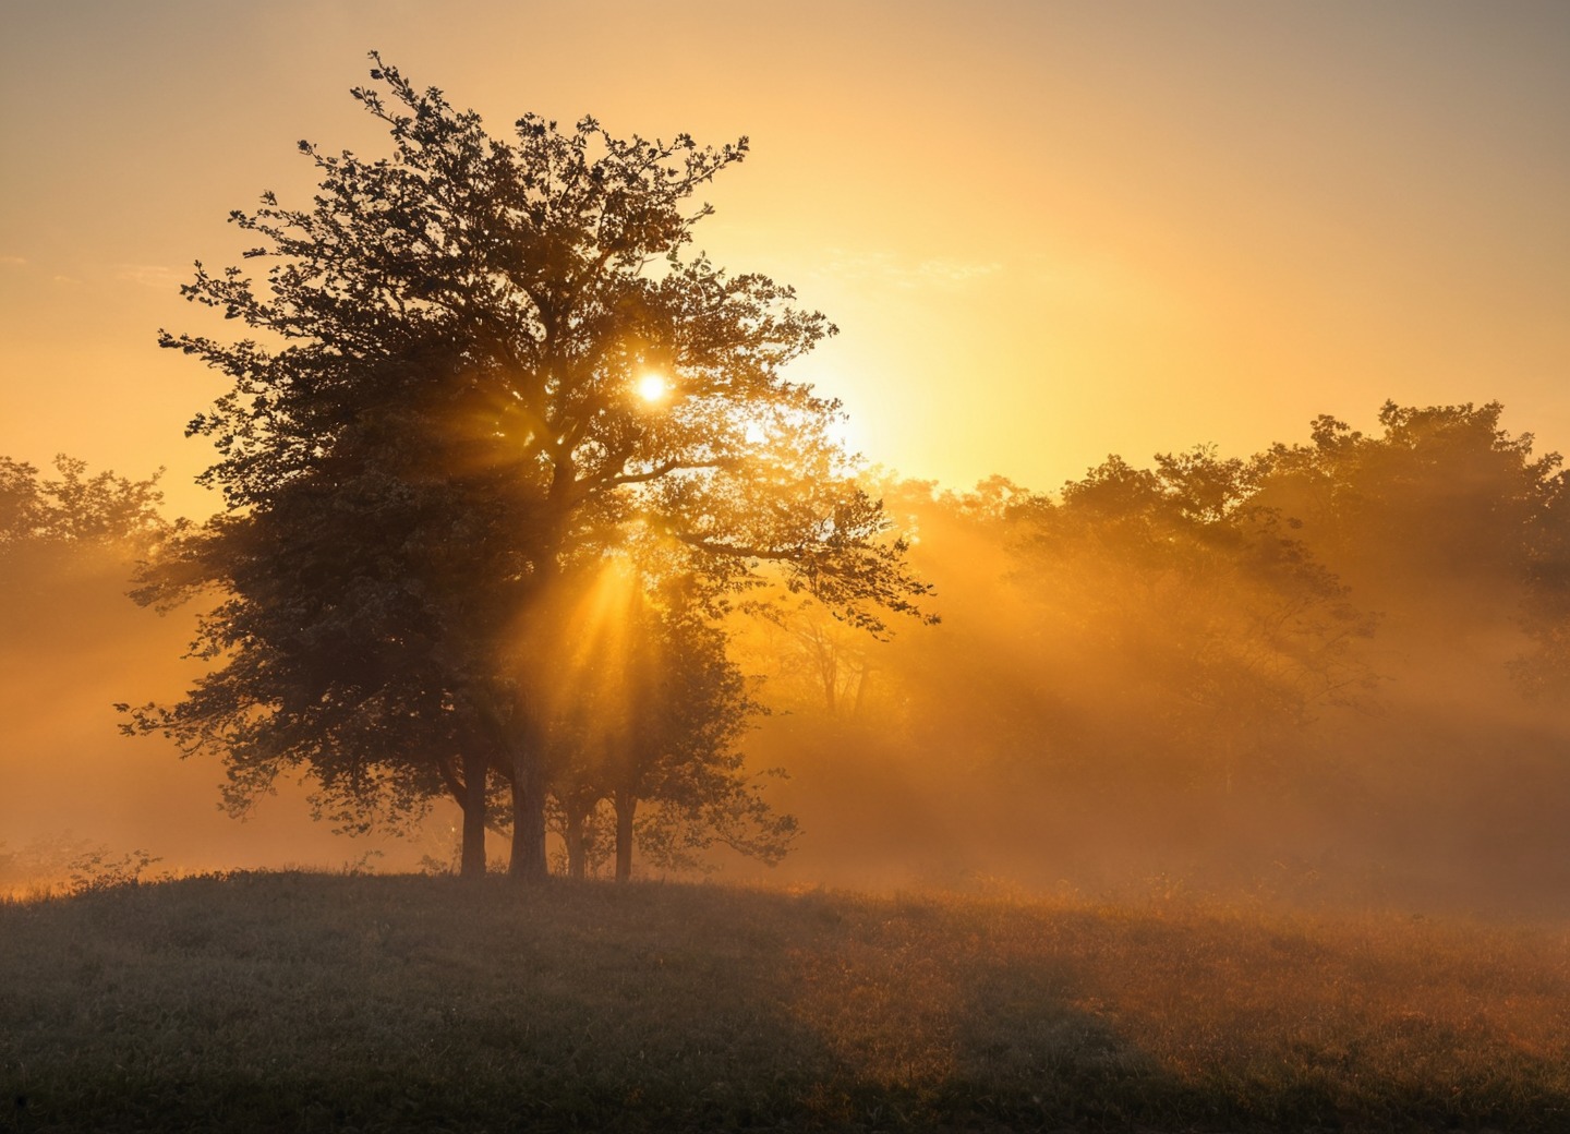
[[0, 1129], [1570, 1129], [1570, 925], [254, 873], [0, 905]]

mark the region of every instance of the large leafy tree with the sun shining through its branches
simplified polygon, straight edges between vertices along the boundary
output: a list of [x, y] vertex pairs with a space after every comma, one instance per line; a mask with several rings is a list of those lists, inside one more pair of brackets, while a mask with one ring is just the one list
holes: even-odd
[[259, 338], [162, 336], [232, 382], [192, 423], [228, 512], [144, 592], [217, 595], [214, 668], [133, 727], [223, 754], [242, 796], [295, 766], [350, 809], [446, 787], [468, 872], [501, 776], [512, 872], [537, 876], [548, 721], [523, 675], [551, 669], [529, 627], [559, 578], [653, 537], [721, 592], [769, 564], [874, 630], [925, 587], [843, 473], [837, 402], [785, 377], [832, 325], [689, 251], [744, 138], [526, 115], [501, 140], [372, 60], [353, 97], [391, 154], [301, 143], [314, 203], [231, 214], [265, 276], [198, 264], [184, 289]]

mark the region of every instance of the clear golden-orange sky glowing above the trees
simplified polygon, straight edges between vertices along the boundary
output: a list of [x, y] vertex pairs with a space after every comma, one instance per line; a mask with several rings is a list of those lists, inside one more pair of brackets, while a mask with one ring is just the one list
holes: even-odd
[[308, 196], [295, 141], [382, 148], [372, 47], [498, 134], [750, 135], [699, 245], [840, 325], [801, 374], [904, 474], [1055, 488], [1385, 399], [1570, 449], [1570, 3], [6, 0], [0, 454], [204, 510], [221, 386], [155, 331], [209, 328], [177, 284], [229, 209]]

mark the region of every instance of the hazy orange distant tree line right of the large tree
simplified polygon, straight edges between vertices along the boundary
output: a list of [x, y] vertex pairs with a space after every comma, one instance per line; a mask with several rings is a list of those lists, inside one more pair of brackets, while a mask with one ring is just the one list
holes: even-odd
[[1324, 416], [1253, 457], [1110, 457], [1055, 493], [887, 479], [942, 625], [743, 630], [785, 713], [758, 748], [796, 755], [809, 817], [838, 815], [854, 752], [890, 799], [845, 818], [884, 831], [864, 843], [978, 870], [1209, 842], [1207, 870], [1502, 864], [1551, 889], [1570, 503], [1557, 454], [1501, 413], [1386, 404], [1375, 432]]

